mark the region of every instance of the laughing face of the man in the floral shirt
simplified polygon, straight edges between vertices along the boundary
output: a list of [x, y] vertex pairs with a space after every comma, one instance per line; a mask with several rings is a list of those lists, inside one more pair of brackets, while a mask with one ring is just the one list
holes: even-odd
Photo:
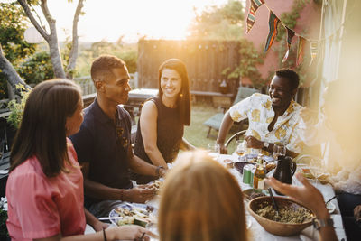
[[297, 88], [291, 89], [289, 79], [274, 76], [269, 88], [272, 106], [275, 109], [286, 110], [290, 106], [292, 97], [296, 94]]

